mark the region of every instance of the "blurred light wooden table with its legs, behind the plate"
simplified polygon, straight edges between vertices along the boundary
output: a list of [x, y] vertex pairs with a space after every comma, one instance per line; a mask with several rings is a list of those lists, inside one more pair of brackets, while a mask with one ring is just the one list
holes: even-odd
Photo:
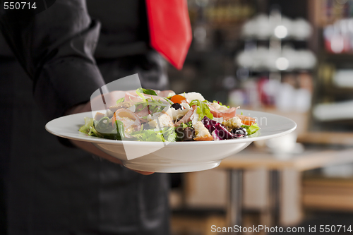
[[239, 154], [222, 160], [220, 168], [229, 171], [229, 206], [227, 220], [231, 226], [241, 224], [242, 173], [244, 169], [270, 170], [270, 207], [274, 223], [278, 223], [280, 207], [280, 172], [292, 169], [297, 172], [353, 162], [353, 148], [345, 150], [306, 150], [302, 154], [285, 155], [256, 150], [249, 147]]

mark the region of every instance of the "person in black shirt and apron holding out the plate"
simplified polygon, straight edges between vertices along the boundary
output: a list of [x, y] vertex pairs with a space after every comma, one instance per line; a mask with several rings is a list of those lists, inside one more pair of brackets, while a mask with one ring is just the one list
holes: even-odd
[[187, 49], [174, 59], [150, 47], [165, 47], [150, 2], [57, 0], [18, 22], [1, 12], [0, 234], [169, 234], [167, 174], [138, 174], [44, 130], [118, 78], [167, 88], [160, 54], [180, 68]]

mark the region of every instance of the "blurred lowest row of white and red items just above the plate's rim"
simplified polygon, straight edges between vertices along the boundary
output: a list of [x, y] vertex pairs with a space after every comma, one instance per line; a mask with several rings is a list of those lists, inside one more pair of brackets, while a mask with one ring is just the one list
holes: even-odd
[[229, 90], [231, 106], [278, 112], [306, 113], [311, 108], [313, 78], [311, 73], [262, 73], [258, 76], [237, 76], [239, 85]]

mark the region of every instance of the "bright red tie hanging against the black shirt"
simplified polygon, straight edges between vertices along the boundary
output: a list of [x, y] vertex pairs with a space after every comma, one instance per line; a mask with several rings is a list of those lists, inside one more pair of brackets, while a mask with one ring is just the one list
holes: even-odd
[[185, 0], [146, 0], [151, 46], [181, 69], [192, 40]]

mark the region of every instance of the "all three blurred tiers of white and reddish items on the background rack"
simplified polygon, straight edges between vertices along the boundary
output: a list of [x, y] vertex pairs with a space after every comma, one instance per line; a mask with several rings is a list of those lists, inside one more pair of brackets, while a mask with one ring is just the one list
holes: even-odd
[[244, 51], [234, 58], [239, 86], [229, 92], [229, 104], [309, 112], [316, 68], [316, 56], [306, 49], [310, 34], [306, 20], [290, 20], [277, 8], [244, 23]]

